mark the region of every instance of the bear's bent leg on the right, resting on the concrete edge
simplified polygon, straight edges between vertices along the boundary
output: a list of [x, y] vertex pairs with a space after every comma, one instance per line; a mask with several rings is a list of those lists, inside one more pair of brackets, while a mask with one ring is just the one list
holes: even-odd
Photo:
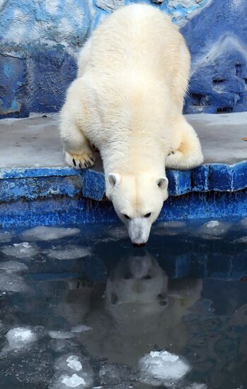
[[195, 129], [183, 116], [177, 125], [178, 132], [181, 134], [181, 143], [178, 150], [172, 151], [166, 157], [166, 168], [183, 170], [196, 168], [202, 164], [203, 155]]

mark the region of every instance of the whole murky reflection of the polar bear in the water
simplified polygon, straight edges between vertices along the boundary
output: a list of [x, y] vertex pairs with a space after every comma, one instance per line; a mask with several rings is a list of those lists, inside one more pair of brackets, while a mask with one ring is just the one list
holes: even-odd
[[200, 280], [168, 282], [151, 255], [137, 252], [118, 263], [106, 285], [70, 290], [61, 308], [73, 324], [92, 328], [81, 335], [91, 355], [136, 366], [155, 349], [180, 352], [188, 333], [183, 316], [201, 289]]

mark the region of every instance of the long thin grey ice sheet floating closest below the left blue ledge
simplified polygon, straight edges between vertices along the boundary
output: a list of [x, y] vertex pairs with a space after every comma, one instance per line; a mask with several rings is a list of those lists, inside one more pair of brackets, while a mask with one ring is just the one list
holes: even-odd
[[26, 240], [54, 240], [67, 238], [80, 233], [79, 228], [36, 226], [23, 231], [22, 237]]

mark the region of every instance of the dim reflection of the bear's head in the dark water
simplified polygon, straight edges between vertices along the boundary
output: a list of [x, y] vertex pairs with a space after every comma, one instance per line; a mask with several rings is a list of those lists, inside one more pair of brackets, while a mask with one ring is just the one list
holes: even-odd
[[134, 304], [142, 313], [163, 311], [168, 306], [166, 272], [149, 252], [137, 250], [110, 272], [105, 302], [111, 313], [124, 314], [126, 304]]

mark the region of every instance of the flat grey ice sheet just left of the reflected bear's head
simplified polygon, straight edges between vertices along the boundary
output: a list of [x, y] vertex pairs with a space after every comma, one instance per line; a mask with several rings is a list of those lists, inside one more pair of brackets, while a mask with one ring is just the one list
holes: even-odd
[[50, 258], [55, 260], [76, 260], [77, 258], [88, 257], [91, 255], [91, 248], [80, 247], [76, 245], [68, 245], [66, 248], [59, 246], [47, 250], [46, 254]]

